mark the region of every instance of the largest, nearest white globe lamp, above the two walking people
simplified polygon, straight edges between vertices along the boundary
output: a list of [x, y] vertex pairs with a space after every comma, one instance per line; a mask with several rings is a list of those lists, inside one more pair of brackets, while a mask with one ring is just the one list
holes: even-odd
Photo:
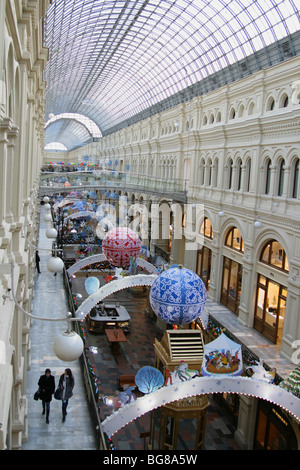
[[75, 331], [64, 331], [55, 338], [53, 351], [61, 361], [76, 361], [83, 353], [83, 341]]

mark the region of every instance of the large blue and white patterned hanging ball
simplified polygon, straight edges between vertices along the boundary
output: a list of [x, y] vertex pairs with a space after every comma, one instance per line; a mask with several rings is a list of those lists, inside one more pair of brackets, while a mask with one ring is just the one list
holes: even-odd
[[207, 292], [202, 279], [190, 269], [171, 267], [153, 282], [150, 304], [154, 313], [171, 325], [185, 325], [198, 318]]

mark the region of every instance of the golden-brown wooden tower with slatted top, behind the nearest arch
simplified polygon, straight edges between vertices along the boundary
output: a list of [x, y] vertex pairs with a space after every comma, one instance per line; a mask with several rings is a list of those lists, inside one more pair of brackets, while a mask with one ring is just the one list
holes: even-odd
[[[167, 330], [161, 340], [155, 339], [155, 367], [164, 374], [174, 371], [181, 361], [189, 369], [201, 373], [204, 344], [200, 330]], [[193, 450], [204, 445], [206, 412], [209, 405], [207, 395], [181, 399], [151, 412], [149, 449], [177, 450], [180, 435], [180, 420], [196, 420]], [[158, 428], [158, 439], [157, 439]], [[190, 449], [191, 450], [191, 449]]]

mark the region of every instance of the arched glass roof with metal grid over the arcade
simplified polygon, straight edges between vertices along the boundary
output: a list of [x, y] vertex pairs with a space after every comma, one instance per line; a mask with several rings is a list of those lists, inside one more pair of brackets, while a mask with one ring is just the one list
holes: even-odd
[[[253, 57], [262, 68], [299, 53], [299, 18], [299, 0], [53, 0], [45, 18], [46, 116], [85, 115], [108, 134], [240, 61], [251, 73]], [[67, 145], [69, 125], [53, 126], [47, 143]], [[83, 143], [76, 133], [70, 139], [71, 147]]]

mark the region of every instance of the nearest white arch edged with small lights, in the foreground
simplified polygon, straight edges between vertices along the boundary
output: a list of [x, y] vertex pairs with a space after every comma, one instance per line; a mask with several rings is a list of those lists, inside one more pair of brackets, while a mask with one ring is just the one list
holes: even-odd
[[261, 398], [289, 412], [300, 422], [300, 399], [292, 393], [263, 380], [249, 377], [196, 377], [181, 383], [164, 386], [157, 391], [123, 405], [102, 421], [101, 428], [112, 436], [131, 421], [160, 406], [174, 401], [211, 393], [238, 393]]

